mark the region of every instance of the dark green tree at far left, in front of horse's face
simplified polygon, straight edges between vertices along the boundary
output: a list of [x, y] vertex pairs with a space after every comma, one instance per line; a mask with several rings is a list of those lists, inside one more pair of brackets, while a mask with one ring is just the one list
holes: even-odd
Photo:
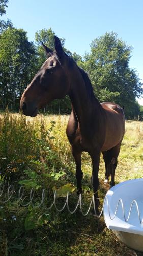
[[0, 104], [19, 106], [20, 95], [36, 72], [34, 44], [22, 29], [8, 28], [0, 36]]

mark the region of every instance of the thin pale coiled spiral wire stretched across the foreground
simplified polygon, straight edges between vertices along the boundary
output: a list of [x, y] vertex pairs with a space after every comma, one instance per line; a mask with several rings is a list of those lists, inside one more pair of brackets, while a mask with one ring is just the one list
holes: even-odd
[[[6, 197], [6, 200], [1, 200], [2, 196], [4, 196], [5, 194], [5, 197]], [[15, 190], [14, 190], [14, 186], [13, 185], [10, 185], [8, 186], [7, 188], [7, 191], [5, 190], [5, 186], [4, 184], [0, 184], [0, 203], [1, 204], [5, 204], [7, 202], [12, 202], [12, 197], [14, 196], [15, 193]], [[108, 200], [108, 197], [105, 196], [104, 198], [104, 203], [103, 203], [103, 207], [101, 209], [101, 212], [99, 215], [96, 214], [96, 208], [95, 208], [95, 200], [94, 200], [94, 195], [92, 196], [91, 198], [91, 202], [90, 202], [90, 205], [89, 205], [89, 208], [86, 212], [83, 212], [83, 207], [82, 207], [82, 198], [81, 198], [81, 194], [79, 194], [79, 198], [77, 200], [77, 204], [74, 208], [74, 210], [71, 210], [70, 207], [69, 207], [69, 193], [67, 193], [66, 195], [66, 199], [65, 199], [65, 203], [63, 205], [63, 207], [61, 209], [58, 208], [57, 206], [57, 200], [58, 200], [58, 197], [57, 197], [57, 192], [55, 191], [54, 192], [54, 197], [53, 197], [53, 202], [51, 203], [50, 207], [47, 207], [45, 205], [45, 199], [46, 199], [46, 189], [43, 189], [42, 190], [42, 196], [41, 196], [41, 202], [39, 203], [39, 205], [37, 204], [34, 204], [33, 201], [34, 201], [34, 196], [35, 196], [35, 189], [32, 188], [31, 191], [30, 191], [30, 195], [29, 195], [29, 198], [30, 200], [28, 202], [26, 202], [25, 204], [23, 203], [24, 202], [24, 187], [21, 186], [19, 188], [19, 191], [18, 191], [18, 199], [17, 199], [17, 203], [20, 203], [21, 206], [24, 206], [24, 207], [27, 207], [28, 205], [31, 205], [33, 208], [40, 208], [40, 207], [43, 207], [45, 210], [49, 211], [52, 207], [55, 207], [56, 211], [58, 212], [62, 212], [66, 206], [67, 206], [67, 209], [68, 211], [70, 212], [70, 214], [74, 214], [76, 212], [76, 210], [79, 208], [80, 209], [80, 212], [83, 216], [87, 216], [90, 212], [90, 209], [93, 205], [93, 209], [94, 209], [94, 213], [95, 213], [95, 216], [97, 218], [100, 218], [101, 215], [102, 215], [102, 212], [103, 212], [103, 209], [105, 207], [105, 204], [107, 204], [107, 209], [108, 209], [108, 214], [109, 214], [109, 217], [111, 220], [113, 220], [116, 215], [117, 215], [117, 211], [119, 209], [119, 205], [121, 205], [121, 208], [122, 208], [122, 213], [123, 213], [123, 217], [124, 217], [124, 221], [125, 222], [128, 222], [129, 221], [129, 218], [130, 218], [130, 215], [131, 215], [131, 211], [132, 211], [132, 208], [133, 208], [133, 205], [135, 205], [136, 207], [136, 210], [137, 210], [137, 215], [138, 215], [138, 219], [140, 221], [140, 224], [142, 225], [143, 224], [143, 219], [141, 219], [141, 216], [140, 216], [140, 211], [139, 211], [139, 207], [138, 207], [138, 203], [136, 200], [133, 200], [131, 205], [130, 205], [130, 209], [129, 209], [129, 212], [128, 212], [128, 215], [127, 215], [127, 218], [125, 216], [125, 207], [124, 207], [124, 204], [123, 204], [123, 200], [120, 198], [118, 200], [118, 203], [116, 205], [116, 209], [115, 209], [115, 212], [114, 213], [111, 213], [112, 210], [110, 209], [110, 203], [109, 203], [109, 200]]]

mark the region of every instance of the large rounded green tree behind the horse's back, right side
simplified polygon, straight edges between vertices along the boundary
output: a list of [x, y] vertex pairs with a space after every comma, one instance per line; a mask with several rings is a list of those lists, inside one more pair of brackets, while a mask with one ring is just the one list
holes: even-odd
[[96, 97], [101, 102], [112, 101], [125, 106], [127, 117], [133, 115], [136, 97], [142, 94], [138, 74], [129, 68], [131, 50], [116, 33], [106, 33], [92, 41], [91, 52], [81, 62], [90, 75]]

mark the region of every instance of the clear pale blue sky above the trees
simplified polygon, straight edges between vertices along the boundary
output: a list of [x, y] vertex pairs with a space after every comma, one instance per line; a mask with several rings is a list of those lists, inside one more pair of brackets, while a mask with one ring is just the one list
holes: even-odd
[[[7, 18], [27, 31], [30, 41], [36, 31], [51, 28], [66, 39], [67, 49], [81, 56], [90, 52], [96, 37], [116, 32], [133, 47], [130, 67], [143, 80], [143, 0], [9, 0], [2, 16]], [[139, 103], [143, 105], [143, 97]]]

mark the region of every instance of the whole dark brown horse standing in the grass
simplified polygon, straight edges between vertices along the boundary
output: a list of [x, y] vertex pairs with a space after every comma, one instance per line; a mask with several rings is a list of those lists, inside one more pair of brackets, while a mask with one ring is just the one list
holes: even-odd
[[36, 116], [39, 108], [54, 99], [69, 95], [72, 112], [66, 132], [76, 163], [77, 189], [78, 193], [82, 193], [81, 153], [86, 151], [92, 158], [91, 180], [98, 214], [100, 153], [102, 152], [105, 162], [105, 182], [108, 182], [111, 175], [110, 185], [113, 186], [117, 158], [125, 132], [124, 112], [115, 103], [99, 103], [87, 73], [66, 55], [59, 38], [55, 36], [54, 40], [54, 52], [43, 44], [48, 58], [24, 91], [20, 107], [25, 115]]

